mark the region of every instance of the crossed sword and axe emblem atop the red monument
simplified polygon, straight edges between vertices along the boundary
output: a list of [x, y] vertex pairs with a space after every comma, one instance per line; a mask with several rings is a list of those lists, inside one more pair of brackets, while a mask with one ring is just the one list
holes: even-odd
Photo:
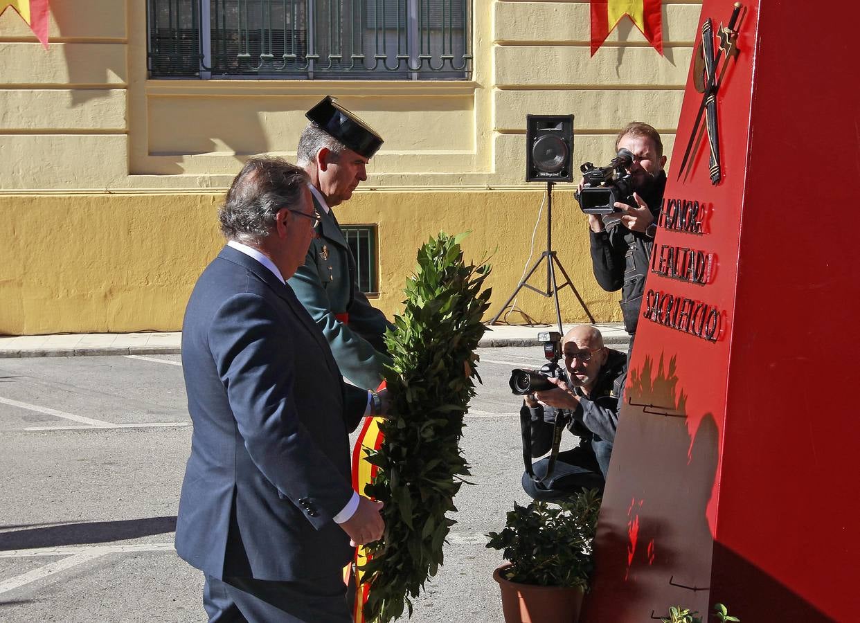
[[[728, 20], [728, 26], [720, 24], [717, 36], [720, 40], [719, 49], [714, 55], [714, 27], [710, 17], [702, 24], [702, 42], [699, 44], [696, 51], [696, 61], [693, 64], [693, 84], [696, 90], [703, 94], [702, 103], [699, 106], [696, 114], [696, 122], [693, 124], [693, 131], [690, 135], [690, 142], [687, 144], [687, 149], [684, 152], [684, 160], [681, 161], [681, 166], [678, 170], [678, 177], [687, 169], [687, 165], [691, 164], [690, 156], [702, 139], [704, 128], [699, 128], [702, 122], [702, 115], [705, 114], [705, 126], [708, 129], [708, 144], [710, 144], [710, 183], [715, 185], [722, 179], [722, 170], [720, 168], [720, 137], [718, 136], [716, 123], [716, 92], [720, 89], [722, 77], [726, 72], [728, 59], [737, 56], [738, 50], [736, 46], [737, 40], [737, 22], [740, 17], [741, 3], [734, 3], [732, 16]], [[725, 58], [722, 58], [725, 52]], [[722, 60], [722, 65], [720, 61]], [[717, 69], [719, 69], [720, 77], [716, 77]]]

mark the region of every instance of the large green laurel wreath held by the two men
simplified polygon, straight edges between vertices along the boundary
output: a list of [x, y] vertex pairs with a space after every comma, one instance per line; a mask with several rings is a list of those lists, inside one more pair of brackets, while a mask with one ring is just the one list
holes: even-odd
[[365, 620], [387, 623], [412, 615], [417, 597], [443, 562], [442, 547], [456, 511], [453, 498], [469, 475], [459, 448], [463, 417], [481, 381], [475, 363], [490, 290], [489, 266], [466, 265], [464, 235], [440, 233], [418, 252], [402, 315], [385, 335], [392, 359], [385, 381], [391, 399], [380, 424], [384, 442], [368, 457], [378, 467], [365, 495], [384, 502], [385, 533], [367, 546], [371, 559]]

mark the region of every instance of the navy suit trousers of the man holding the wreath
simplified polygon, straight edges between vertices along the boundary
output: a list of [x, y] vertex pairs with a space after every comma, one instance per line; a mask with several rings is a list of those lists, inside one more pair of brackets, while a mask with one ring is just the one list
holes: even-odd
[[206, 576], [210, 623], [352, 623], [341, 573], [292, 582]]

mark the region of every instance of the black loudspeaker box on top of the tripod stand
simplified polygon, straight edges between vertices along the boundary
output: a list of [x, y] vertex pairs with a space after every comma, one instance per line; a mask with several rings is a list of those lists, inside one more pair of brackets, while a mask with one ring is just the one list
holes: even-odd
[[525, 115], [525, 181], [572, 181], [574, 115]]

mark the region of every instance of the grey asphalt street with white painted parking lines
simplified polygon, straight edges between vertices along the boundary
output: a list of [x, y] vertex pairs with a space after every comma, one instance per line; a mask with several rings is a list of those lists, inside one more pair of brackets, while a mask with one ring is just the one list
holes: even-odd
[[[483, 535], [525, 502], [507, 378], [542, 353], [480, 352], [463, 441], [475, 485], [458, 495], [417, 623], [502, 620], [490, 575], [501, 555]], [[0, 360], [0, 621], [206, 620], [200, 572], [173, 550], [191, 438], [181, 371], [165, 354]]]

